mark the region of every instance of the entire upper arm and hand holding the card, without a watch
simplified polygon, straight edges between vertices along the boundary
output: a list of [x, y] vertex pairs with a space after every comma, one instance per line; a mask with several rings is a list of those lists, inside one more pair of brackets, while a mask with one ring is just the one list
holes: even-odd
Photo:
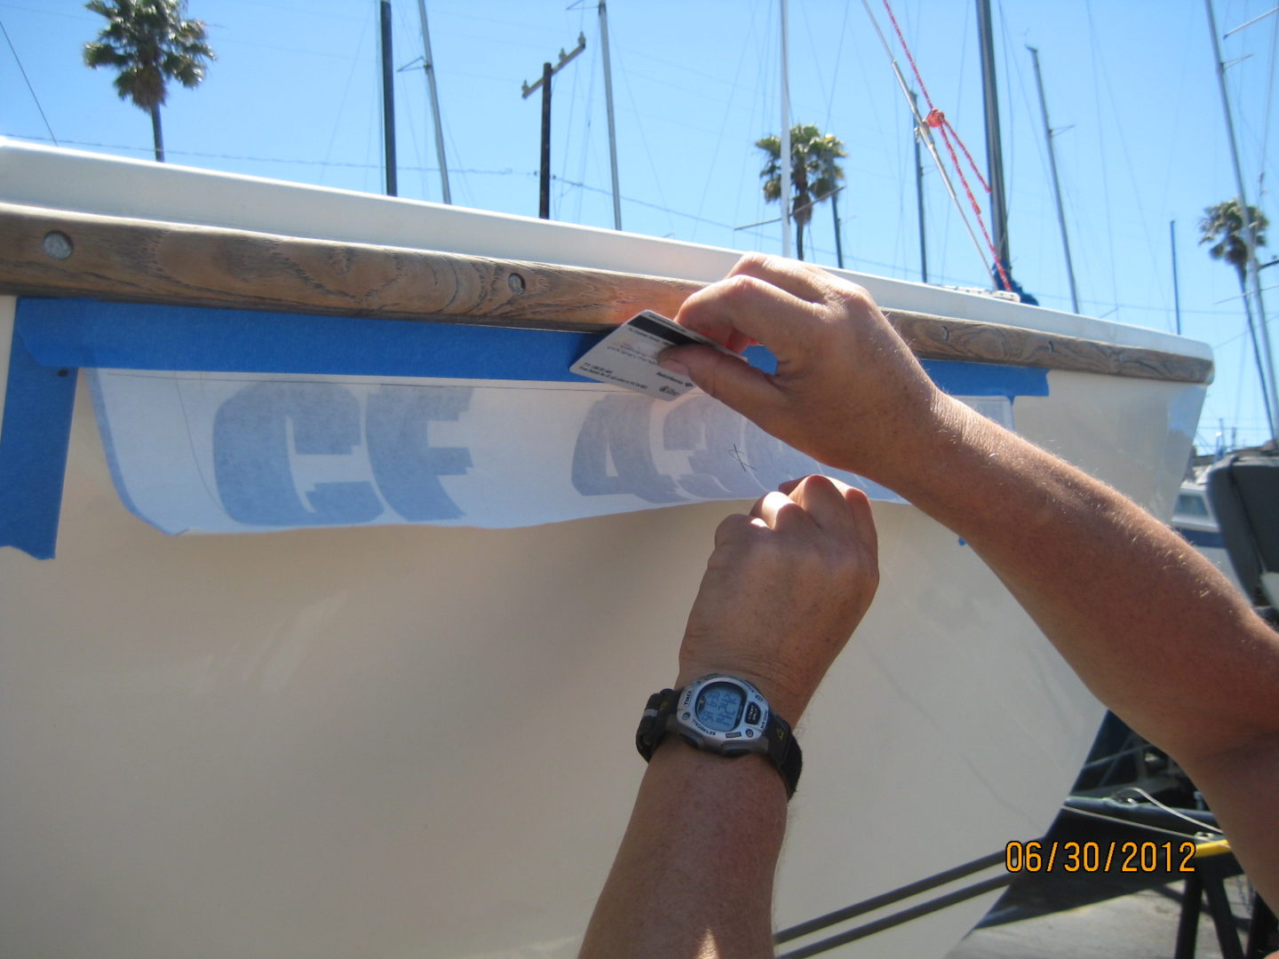
[[680, 322], [778, 357], [765, 375], [668, 352], [709, 394], [959, 533], [1096, 696], [1195, 777], [1279, 900], [1279, 638], [1175, 533], [1101, 482], [941, 394], [871, 297], [747, 257]]

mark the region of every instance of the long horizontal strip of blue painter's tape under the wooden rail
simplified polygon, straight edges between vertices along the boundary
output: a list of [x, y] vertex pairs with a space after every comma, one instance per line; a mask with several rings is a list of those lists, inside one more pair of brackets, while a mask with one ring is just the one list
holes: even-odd
[[[46, 366], [545, 382], [591, 382], [568, 368], [602, 335], [29, 298], [18, 304], [17, 329]], [[762, 347], [746, 358], [765, 372], [776, 368]], [[959, 396], [1048, 395], [1044, 370], [923, 366]]]

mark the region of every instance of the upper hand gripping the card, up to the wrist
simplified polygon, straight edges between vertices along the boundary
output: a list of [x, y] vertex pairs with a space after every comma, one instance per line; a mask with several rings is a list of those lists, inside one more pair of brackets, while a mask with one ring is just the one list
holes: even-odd
[[747, 254], [675, 320], [734, 352], [761, 343], [778, 368], [709, 347], [669, 349], [664, 364], [796, 449], [889, 486], [961, 412], [865, 289], [807, 263]]

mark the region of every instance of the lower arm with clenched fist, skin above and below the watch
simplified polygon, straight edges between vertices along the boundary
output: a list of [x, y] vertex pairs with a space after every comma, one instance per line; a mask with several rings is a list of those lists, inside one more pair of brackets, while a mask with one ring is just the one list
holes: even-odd
[[[783, 490], [716, 531], [675, 687], [728, 673], [794, 724], [879, 579], [859, 491], [822, 477]], [[785, 785], [766, 758], [726, 760], [668, 735], [645, 771], [581, 955], [771, 956], [785, 823]]]

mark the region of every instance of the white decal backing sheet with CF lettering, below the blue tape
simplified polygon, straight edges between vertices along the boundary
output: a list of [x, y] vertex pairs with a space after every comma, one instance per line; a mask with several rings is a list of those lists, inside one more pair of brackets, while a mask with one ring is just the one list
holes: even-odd
[[[91, 376], [122, 501], [166, 533], [490, 529], [709, 500], [820, 472], [705, 394], [270, 373]], [[1007, 400], [1004, 400], [1007, 404]]]

